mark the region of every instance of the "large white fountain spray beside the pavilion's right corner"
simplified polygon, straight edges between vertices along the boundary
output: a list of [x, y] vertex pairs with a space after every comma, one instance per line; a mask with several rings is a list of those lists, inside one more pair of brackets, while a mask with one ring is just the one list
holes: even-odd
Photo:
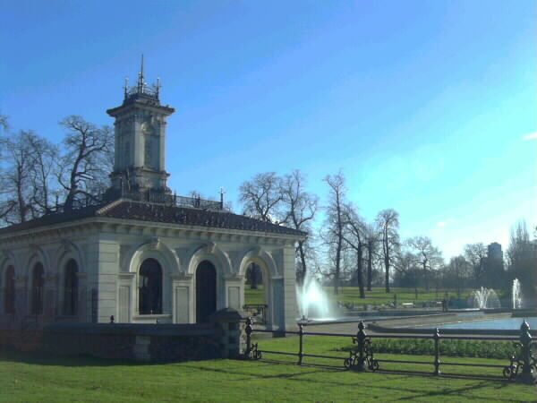
[[317, 279], [310, 276], [309, 273], [306, 274], [303, 286], [296, 286], [296, 299], [302, 321], [332, 319], [332, 309], [328, 296]]

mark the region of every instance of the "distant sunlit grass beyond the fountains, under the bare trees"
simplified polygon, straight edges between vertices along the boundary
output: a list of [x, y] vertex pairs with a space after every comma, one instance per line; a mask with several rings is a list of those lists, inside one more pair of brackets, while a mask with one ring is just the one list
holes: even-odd
[[[418, 296], [416, 298], [414, 288], [392, 287], [391, 293], [387, 293], [384, 287], [373, 287], [371, 291], [365, 292], [365, 298], [360, 298], [358, 287], [340, 287], [340, 293], [334, 295], [334, 287], [324, 287], [325, 292], [333, 301], [341, 301], [356, 305], [357, 308], [363, 304], [389, 304], [394, 302], [394, 296], [397, 296], [397, 304], [403, 303], [422, 303], [425, 301], [441, 301], [445, 294], [456, 297], [456, 290], [451, 288], [441, 288], [437, 294], [434, 288], [426, 291], [424, 288], [418, 288]], [[461, 297], [467, 298], [471, 289], [463, 290]], [[263, 286], [258, 286], [258, 289], [251, 289], [250, 286], [244, 286], [244, 303], [245, 304], [263, 304], [264, 290]]]

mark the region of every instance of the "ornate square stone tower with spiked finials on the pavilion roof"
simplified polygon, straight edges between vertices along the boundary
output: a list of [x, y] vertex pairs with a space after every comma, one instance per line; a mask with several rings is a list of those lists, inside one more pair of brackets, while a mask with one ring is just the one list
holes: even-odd
[[124, 101], [107, 110], [115, 117], [115, 163], [110, 175], [112, 189], [122, 192], [171, 193], [164, 166], [166, 116], [173, 107], [160, 105], [160, 82], [147, 85], [143, 80], [143, 56], [136, 86], [125, 79]]

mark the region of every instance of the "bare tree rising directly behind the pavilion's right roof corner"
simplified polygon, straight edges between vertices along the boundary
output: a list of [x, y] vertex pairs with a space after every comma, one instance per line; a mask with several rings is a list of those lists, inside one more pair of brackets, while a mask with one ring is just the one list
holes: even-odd
[[[281, 201], [284, 210], [285, 222], [289, 227], [309, 232], [311, 222], [317, 213], [319, 198], [317, 195], [307, 193], [304, 189], [305, 179], [300, 170], [295, 169], [291, 174], [284, 176], [281, 181]], [[306, 277], [307, 239], [298, 241], [296, 248], [300, 260], [299, 282]]]

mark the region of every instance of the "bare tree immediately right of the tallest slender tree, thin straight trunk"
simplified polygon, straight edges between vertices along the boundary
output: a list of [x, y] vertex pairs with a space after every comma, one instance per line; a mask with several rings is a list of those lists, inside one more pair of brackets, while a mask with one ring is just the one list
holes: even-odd
[[364, 220], [360, 217], [357, 209], [348, 205], [345, 206], [345, 242], [354, 250], [356, 254], [356, 272], [355, 278], [360, 290], [360, 297], [365, 298], [365, 289], [363, 287], [363, 249], [366, 242], [366, 227]]

